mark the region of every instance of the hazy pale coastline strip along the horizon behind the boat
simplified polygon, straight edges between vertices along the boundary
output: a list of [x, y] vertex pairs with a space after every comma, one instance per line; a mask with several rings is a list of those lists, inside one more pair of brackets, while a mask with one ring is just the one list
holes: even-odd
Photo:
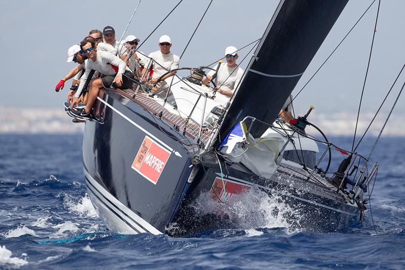
[[[314, 111], [315, 112], [315, 111]], [[374, 114], [360, 113], [357, 134], [366, 130]], [[352, 136], [355, 127], [355, 114], [312, 113], [309, 121], [314, 123], [328, 136]], [[377, 136], [384, 124], [386, 114], [379, 115], [370, 128], [368, 135]], [[82, 134], [85, 125], [74, 124], [62, 108], [15, 108], [0, 107], [0, 134]], [[307, 128], [310, 134], [316, 131]], [[404, 116], [400, 113], [392, 114], [383, 132], [385, 137], [405, 137]]]

